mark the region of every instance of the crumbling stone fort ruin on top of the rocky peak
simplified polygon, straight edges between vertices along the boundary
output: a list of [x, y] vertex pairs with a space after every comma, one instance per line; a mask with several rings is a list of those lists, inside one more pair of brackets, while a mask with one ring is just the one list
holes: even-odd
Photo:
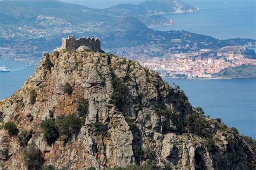
[[83, 46], [85, 50], [102, 52], [100, 49], [100, 40], [98, 38], [79, 38], [76, 39], [73, 35], [68, 38], [62, 38], [62, 50], [76, 51], [79, 47]]

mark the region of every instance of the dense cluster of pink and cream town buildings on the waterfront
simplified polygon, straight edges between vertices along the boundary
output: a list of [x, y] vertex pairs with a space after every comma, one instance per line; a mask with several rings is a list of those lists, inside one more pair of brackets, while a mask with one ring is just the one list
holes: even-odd
[[151, 57], [140, 60], [140, 63], [159, 72], [162, 77], [169, 78], [214, 78], [228, 67], [256, 65], [256, 59], [248, 59], [234, 51], [211, 53], [210, 57], [201, 57], [206, 52], [209, 50], [170, 54], [161, 58]]

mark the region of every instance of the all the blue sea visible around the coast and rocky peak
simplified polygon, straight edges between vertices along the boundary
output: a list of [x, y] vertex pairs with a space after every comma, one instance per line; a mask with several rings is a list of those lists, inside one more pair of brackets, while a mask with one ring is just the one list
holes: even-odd
[[[68, 0], [67, 0], [68, 1]], [[140, 0], [119, 1], [70, 1], [83, 3], [91, 8], [107, 8], [122, 3], [139, 3]], [[251, 0], [184, 0], [198, 6], [195, 13], [166, 15], [174, 25], [159, 26], [156, 30], [186, 30], [219, 39], [253, 38], [255, 33], [255, 1]], [[256, 48], [252, 48], [256, 51]], [[0, 100], [10, 97], [19, 90], [24, 81], [36, 69], [25, 67], [26, 63], [1, 59], [11, 72], [0, 73]], [[185, 91], [194, 107], [202, 107], [206, 115], [221, 118], [230, 127], [236, 127], [241, 134], [256, 139], [256, 79], [165, 79]]]

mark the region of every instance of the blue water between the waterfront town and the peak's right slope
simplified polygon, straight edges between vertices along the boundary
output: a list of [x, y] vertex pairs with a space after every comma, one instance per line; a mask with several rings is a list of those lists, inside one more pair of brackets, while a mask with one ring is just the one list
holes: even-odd
[[256, 139], [256, 78], [165, 79], [180, 86], [194, 107], [211, 118], [221, 118], [240, 134]]

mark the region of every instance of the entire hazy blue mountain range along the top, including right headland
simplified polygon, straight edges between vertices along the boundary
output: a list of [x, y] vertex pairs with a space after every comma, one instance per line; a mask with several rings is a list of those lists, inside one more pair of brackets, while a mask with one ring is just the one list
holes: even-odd
[[[156, 9], [153, 9], [152, 3], [157, 3], [155, 4]], [[185, 5], [181, 2], [169, 2], [168, 4], [170, 5], [164, 9], [163, 3], [164, 2], [144, 2], [139, 5], [120, 4], [109, 9], [99, 10], [60, 1], [2, 1], [0, 2], [0, 13], [5, 15], [5, 18], [1, 19], [0, 23], [4, 23], [5, 20], [12, 22], [25, 20], [30, 22], [34, 21], [38, 15], [48, 15], [77, 24], [82, 22], [108, 22], [114, 17], [131, 15], [139, 18], [140, 21], [148, 26], [156, 26], [158, 25], [157, 23], [162, 25], [171, 24], [170, 19], [164, 16], [149, 16], [156, 15], [159, 12], [175, 12], [178, 11], [178, 9], [184, 12], [195, 10], [192, 6]], [[159, 6], [159, 8], [157, 6]]]

